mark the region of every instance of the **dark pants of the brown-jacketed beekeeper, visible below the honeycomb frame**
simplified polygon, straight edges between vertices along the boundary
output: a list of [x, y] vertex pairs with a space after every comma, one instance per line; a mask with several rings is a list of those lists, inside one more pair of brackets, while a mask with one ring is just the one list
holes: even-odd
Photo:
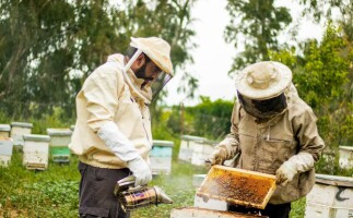
[[289, 218], [291, 211], [291, 203], [273, 205], [268, 204], [264, 209], [254, 209], [246, 208], [242, 206], [228, 205], [230, 211], [238, 211], [243, 214], [261, 214], [262, 216], [268, 216], [269, 218]]

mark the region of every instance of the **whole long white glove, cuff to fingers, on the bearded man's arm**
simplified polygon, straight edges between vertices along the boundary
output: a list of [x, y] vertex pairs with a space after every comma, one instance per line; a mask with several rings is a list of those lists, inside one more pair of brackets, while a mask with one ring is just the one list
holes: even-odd
[[138, 154], [131, 141], [119, 130], [113, 121], [106, 122], [97, 132], [101, 140], [122, 161], [136, 177], [136, 185], [144, 185], [152, 180], [149, 165]]

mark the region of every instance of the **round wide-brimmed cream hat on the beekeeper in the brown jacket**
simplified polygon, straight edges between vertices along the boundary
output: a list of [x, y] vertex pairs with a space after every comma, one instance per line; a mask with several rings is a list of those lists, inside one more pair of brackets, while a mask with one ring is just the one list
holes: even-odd
[[262, 61], [245, 68], [235, 86], [245, 97], [264, 100], [279, 96], [292, 82], [292, 71], [283, 63]]

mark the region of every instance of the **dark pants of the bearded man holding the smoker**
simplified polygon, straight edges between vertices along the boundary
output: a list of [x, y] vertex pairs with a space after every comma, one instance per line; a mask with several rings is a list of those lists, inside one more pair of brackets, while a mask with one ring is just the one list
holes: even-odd
[[121, 209], [113, 191], [118, 180], [130, 174], [130, 170], [104, 169], [79, 164], [80, 181], [80, 217], [129, 218]]

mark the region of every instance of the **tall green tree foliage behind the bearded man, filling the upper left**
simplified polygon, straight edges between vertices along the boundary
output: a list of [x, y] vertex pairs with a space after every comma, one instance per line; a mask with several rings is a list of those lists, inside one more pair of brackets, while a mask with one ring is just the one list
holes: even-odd
[[1, 1], [1, 108], [16, 119], [39, 118], [55, 107], [74, 117], [84, 78], [108, 55], [125, 52], [131, 36], [163, 37], [176, 70], [183, 69], [192, 61], [193, 1]]

